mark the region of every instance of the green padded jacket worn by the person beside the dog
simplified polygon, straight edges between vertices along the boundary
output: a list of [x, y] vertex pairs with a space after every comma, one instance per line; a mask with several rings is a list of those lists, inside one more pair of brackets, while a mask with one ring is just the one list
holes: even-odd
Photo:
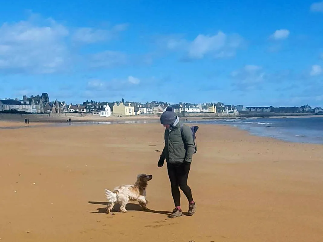
[[167, 163], [192, 162], [194, 153], [194, 141], [192, 131], [189, 126], [183, 125], [181, 132], [181, 122], [177, 117], [175, 123], [164, 134], [165, 146], [161, 153], [161, 159]]

